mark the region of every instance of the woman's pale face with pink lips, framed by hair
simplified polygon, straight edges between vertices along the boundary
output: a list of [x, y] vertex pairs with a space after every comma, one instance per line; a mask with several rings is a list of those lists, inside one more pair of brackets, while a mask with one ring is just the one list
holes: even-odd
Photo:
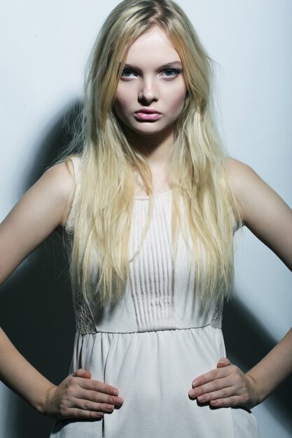
[[172, 132], [186, 97], [182, 69], [178, 52], [160, 27], [139, 36], [118, 83], [118, 118], [138, 134]]

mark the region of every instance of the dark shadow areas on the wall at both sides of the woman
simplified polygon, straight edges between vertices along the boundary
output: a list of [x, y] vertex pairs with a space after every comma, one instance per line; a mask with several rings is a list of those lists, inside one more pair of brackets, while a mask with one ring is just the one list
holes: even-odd
[[[67, 113], [74, 117], [81, 103]], [[36, 181], [70, 141], [63, 129], [63, 117], [40, 145], [34, 174], [25, 189]], [[59, 383], [68, 374], [74, 343], [74, 315], [67, 279], [67, 260], [62, 237], [53, 233], [1, 288], [0, 322], [15, 346], [50, 381]], [[223, 331], [228, 355], [245, 370], [270, 351], [273, 341], [258, 321], [237, 300], [225, 306]], [[195, 376], [194, 376], [195, 377]], [[275, 421], [292, 432], [292, 379], [286, 381], [267, 403]], [[36, 413], [20, 397], [9, 404], [6, 438], [46, 438], [53, 421]], [[275, 409], [277, 407], [277, 409]]]

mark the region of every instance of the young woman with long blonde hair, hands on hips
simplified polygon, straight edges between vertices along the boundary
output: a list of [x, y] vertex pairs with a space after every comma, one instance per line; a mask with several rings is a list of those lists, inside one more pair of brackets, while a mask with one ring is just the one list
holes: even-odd
[[70, 376], [53, 385], [0, 332], [1, 379], [59, 418], [52, 437], [258, 437], [249, 409], [291, 373], [291, 331], [246, 374], [225, 358], [233, 233], [246, 225], [291, 269], [292, 212], [225, 157], [210, 81], [175, 3], [120, 3], [90, 58], [83, 150], [1, 224], [1, 281], [56, 227], [70, 243]]

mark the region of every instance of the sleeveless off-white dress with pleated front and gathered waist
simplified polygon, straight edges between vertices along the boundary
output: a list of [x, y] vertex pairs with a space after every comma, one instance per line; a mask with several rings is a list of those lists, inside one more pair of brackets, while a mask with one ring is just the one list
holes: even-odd
[[[74, 224], [80, 159], [73, 158], [76, 194], [67, 222]], [[148, 198], [134, 200], [130, 255], [141, 242]], [[119, 389], [123, 406], [95, 421], [58, 421], [51, 438], [259, 438], [256, 419], [241, 408], [211, 408], [190, 400], [195, 377], [225, 357], [222, 309], [202, 312], [194, 293], [188, 247], [178, 237], [173, 269], [172, 191], [157, 195], [151, 225], [130, 262], [117, 306], [96, 306], [74, 292], [76, 338], [71, 371]]]

